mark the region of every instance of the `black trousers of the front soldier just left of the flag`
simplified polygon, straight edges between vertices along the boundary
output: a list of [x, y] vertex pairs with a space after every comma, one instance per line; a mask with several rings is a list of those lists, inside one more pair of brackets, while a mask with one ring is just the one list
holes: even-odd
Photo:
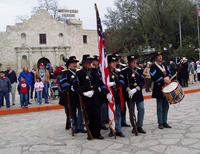
[[100, 136], [101, 131], [101, 102], [98, 93], [92, 98], [84, 97], [85, 107], [89, 118], [89, 129], [93, 137]]

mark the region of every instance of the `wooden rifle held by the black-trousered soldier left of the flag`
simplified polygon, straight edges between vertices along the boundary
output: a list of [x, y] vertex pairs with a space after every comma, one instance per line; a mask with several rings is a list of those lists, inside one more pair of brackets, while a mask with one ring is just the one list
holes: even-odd
[[[77, 82], [78, 82], [78, 86], [80, 87], [78, 77], [77, 77]], [[90, 129], [88, 127], [89, 120], [88, 120], [88, 115], [87, 115], [87, 111], [86, 111], [86, 107], [85, 107], [85, 102], [84, 102], [84, 99], [80, 95], [79, 95], [79, 100], [80, 100], [81, 111], [82, 111], [82, 116], [83, 116], [83, 119], [84, 119], [85, 127], [87, 129], [88, 140], [92, 140], [93, 136], [92, 136], [92, 133], [90, 132]]]

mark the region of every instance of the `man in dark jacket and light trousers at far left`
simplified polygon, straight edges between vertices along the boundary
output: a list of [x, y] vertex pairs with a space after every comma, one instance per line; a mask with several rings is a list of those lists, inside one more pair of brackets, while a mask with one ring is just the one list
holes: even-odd
[[9, 78], [12, 86], [11, 95], [12, 95], [12, 105], [15, 105], [15, 92], [16, 92], [16, 83], [17, 76], [14, 70], [11, 69], [11, 66], [7, 66], [7, 70], [5, 71], [6, 77]]

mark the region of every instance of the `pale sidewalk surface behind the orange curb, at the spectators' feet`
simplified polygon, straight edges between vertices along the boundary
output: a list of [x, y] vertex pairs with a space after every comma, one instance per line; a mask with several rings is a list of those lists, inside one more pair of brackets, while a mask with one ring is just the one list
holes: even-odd
[[[189, 87], [183, 88], [183, 90], [196, 89], [196, 88], [200, 88], [200, 82], [196, 82], [195, 84], [189, 84]], [[152, 94], [152, 92], [145, 92], [145, 89], [143, 88], [143, 95], [151, 95], [151, 94]], [[41, 105], [38, 105], [37, 101], [35, 101], [35, 100], [32, 100], [30, 102], [32, 104], [29, 105], [29, 107], [41, 106]], [[55, 104], [58, 104], [58, 102], [59, 102], [58, 98], [56, 98], [56, 99], [50, 98], [49, 99], [49, 104], [45, 104], [45, 102], [43, 100], [44, 104], [42, 106], [45, 106], [45, 105], [55, 105]], [[13, 109], [13, 108], [21, 108], [20, 98], [19, 98], [19, 95], [18, 95], [17, 92], [16, 92], [16, 102], [15, 102], [15, 105], [12, 105], [12, 102], [10, 104], [11, 104], [11, 109]], [[4, 105], [5, 105], [5, 100], [4, 100]], [[6, 108], [6, 106], [2, 106], [1, 109], [7, 109], [7, 108]]]

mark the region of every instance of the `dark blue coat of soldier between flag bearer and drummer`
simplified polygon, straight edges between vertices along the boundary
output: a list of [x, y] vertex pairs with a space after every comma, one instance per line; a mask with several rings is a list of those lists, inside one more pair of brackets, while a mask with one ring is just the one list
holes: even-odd
[[[143, 76], [143, 70], [139, 67], [135, 67], [134, 69], [127, 67], [122, 70], [122, 74], [124, 75], [125, 79], [125, 86], [123, 89], [123, 96], [125, 101], [130, 101], [128, 97], [128, 92], [126, 92], [126, 88], [128, 87], [128, 79], [130, 83], [130, 89], [136, 88], [137, 86], [140, 87], [140, 90], [138, 90], [132, 97], [133, 102], [141, 102], [144, 100], [143, 94], [142, 94], [142, 88], [144, 86], [144, 76]], [[133, 75], [134, 74], [134, 75]], [[128, 78], [127, 78], [128, 76]], [[136, 84], [137, 85], [136, 85]]]

